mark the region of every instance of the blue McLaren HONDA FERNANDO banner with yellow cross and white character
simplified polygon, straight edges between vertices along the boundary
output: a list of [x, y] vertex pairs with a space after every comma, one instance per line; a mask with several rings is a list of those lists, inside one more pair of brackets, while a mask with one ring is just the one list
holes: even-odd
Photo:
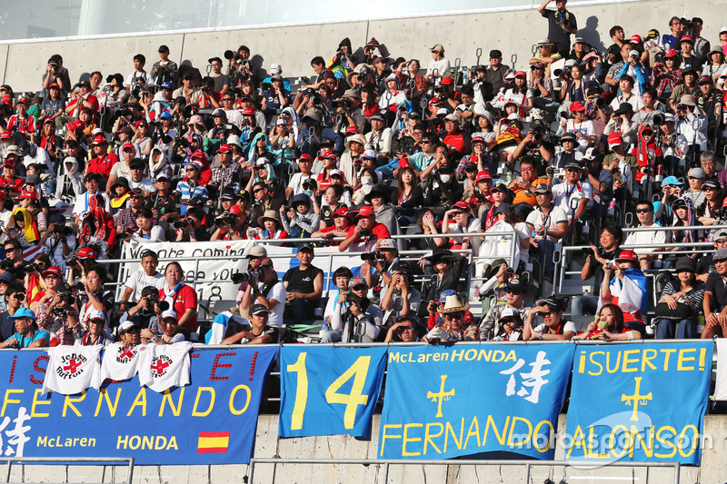
[[390, 348], [379, 457], [553, 459], [573, 345]]

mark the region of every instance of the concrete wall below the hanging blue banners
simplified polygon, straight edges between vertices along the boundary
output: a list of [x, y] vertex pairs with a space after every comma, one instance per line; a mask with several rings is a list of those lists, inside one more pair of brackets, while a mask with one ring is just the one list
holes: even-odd
[[[376, 459], [380, 416], [373, 418], [373, 431], [370, 441], [355, 440], [348, 436], [310, 437], [304, 439], [277, 440], [278, 419], [276, 415], [261, 415], [258, 419], [257, 440], [254, 456], [283, 459]], [[559, 429], [565, 428], [565, 416], [561, 416]], [[682, 468], [680, 482], [717, 483], [723, 482], [727, 475], [727, 416], [707, 416], [704, 434], [710, 436], [702, 448], [701, 468]], [[555, 451], [555, 459], [563, 459], [563, 448]], [[126, 470], [121, 468], [91, 468], [61, 466], [21, 466], [14, 467], [12, 482], [20, 482], [25, 472], [25, 481], [59, 482], [67, 472], [67, 482], [125, 482]], [[134, 469], [134, 484], [229, 484], [243, 482], [248, 466], [145, 466]], [[392, 466], [388, 483], [421, 484], [422, 482], [455, 483], [483, 482], [518, 483], [523, 482], [524, 467], [518, 466], [458, 466], [456, 461], [449, 466], [412, 465], [406, 468]], [[564, 472], [564, 473], [563, 473]], [[663, 484], [673, 482], [672, 469], [631, 469], [628, 467], [603, 467], [598, 469], [563, 469], [563, 467], [533, 467], [532, 482], [543, 482], [550, 477], [559, 482], [566, 476], [568, 482], [583, 484], [603, 484], [605, 481], [632, 481], [640, 484]], [[572, 478], [572, 479], [568, 479]], [[632, 480], [633, 479], [633, 480]], [[258, 464], [255, 466], [254, 482], [285, 484], [377, 484], [383, 482], [383, 466], [314, 466], [304, 464]]]

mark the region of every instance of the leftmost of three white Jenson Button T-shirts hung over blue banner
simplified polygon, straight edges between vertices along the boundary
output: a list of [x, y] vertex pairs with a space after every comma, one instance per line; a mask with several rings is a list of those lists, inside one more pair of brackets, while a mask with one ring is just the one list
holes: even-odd
[[104, 346], [55, 346], [48, 349], [48, 369], [45, 370], [43, 393], [55, 391], [74, 395], [93, 387], [101, 388], [101, 359]]

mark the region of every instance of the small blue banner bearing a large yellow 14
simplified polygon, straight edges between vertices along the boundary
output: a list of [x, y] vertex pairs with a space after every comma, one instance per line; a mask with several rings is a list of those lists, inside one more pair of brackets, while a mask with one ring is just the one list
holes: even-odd
[[284, 346], [278, 435], [370, 439], [385, 365], [386, 347]]

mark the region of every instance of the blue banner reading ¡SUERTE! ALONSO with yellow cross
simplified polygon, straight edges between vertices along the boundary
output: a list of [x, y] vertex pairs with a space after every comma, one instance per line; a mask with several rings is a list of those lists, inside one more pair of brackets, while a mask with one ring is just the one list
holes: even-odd
[[699, 465], [713, 344], [579, 346], [565, 459]]

